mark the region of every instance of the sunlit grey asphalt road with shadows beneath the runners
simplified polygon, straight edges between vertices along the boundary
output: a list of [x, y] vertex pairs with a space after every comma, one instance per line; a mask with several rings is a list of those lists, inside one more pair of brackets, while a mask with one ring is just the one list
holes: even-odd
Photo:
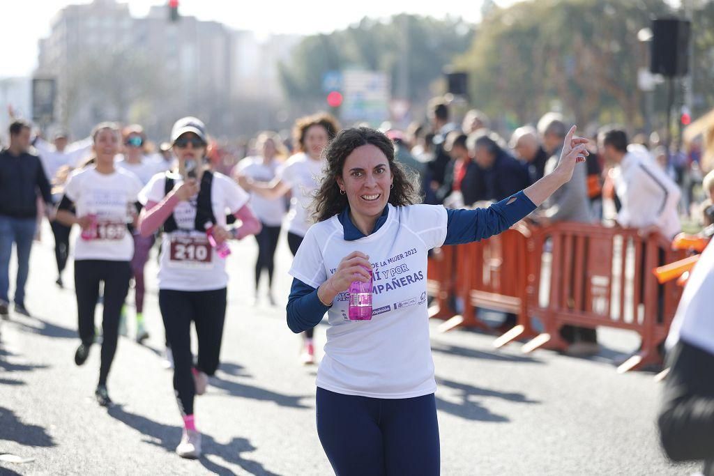
[[[299, 365], [300, 341], [285, 324], [291, 255], [283, 238], [274, 308], [249, 304], [253, 240], [233, 245], [223, 363], [197, 400], [205, 455], [196, 461], [174, 454], [181, 418], [171, 372], [161, 365], [155, 261], [147, 270], [144, 313], [151, 338], [147, 345], [121, 338], [109, 378], [116, 405], [105, 410], [93, 397], [99, 347], [83, 367], [74, 365], [79, 340], [71, 265], [60, 290], [49, 229], [43, 238], [31, 257], [26, 305], [33, 317], [11, 315], [0, 323], [0, 474], [332, 474], [315, 428], [315, 369]], [[698, 470], [671, 465], [658, 446], [661, 384], [653, 374], [615, 373], [615, 362], [638, 345], [632, 335], [602, 330], [603, 352], [578, 359], [546, 350], [523, 355], [518, 344], [495, 351], [491, 336], [440, 334], [437, 325], [432, 348], [444, 475]], [[324, 329], [316, 333], [318, 352]]]

